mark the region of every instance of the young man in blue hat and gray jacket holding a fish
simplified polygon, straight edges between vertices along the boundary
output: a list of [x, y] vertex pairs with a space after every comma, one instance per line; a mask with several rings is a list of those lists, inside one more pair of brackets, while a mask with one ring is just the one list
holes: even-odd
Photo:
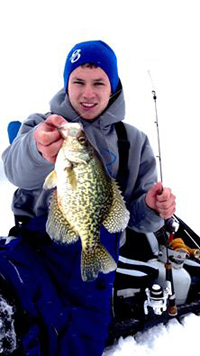
[[[13, 198], [16, 239], [2, 243], [0, 273], [13, 291], [23, 328], [16, 326], [21, 355], [100, 356], [110, 322], [114, 272], [94, 282], [80, 275], [80, 241], [53, 242], [45, 231], [50, 192], [43, 190], [63, 139], [57, 128], [81, 122], [108, 174], [117, 177], [119, 152], [115, 125], [125, 103], [113, 50], [102, 41], [75, 45], [64, 69], [64, 88], [50, 102], [50, 113], [31, 115], [3, 153], [8, 179], [19, 189]], [[124, 198], [135, 231], [157, 231], [173, 215], [175, 197], [156, 183], [156, 162], [148, 138], [125, 124], [130, 142]], [[124, 234], [122, 234], [124, 236]], [[101, 229], [101, 242], [117, 261], [122, 235]], [[121, 242], [122, 243], [122, 242]], [[6, 289], [6, 287], [5, 287]]]

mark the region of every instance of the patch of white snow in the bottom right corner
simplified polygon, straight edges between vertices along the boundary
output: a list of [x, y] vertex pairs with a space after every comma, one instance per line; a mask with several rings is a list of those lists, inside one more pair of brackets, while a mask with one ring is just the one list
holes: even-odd
[[197, 351], [199, 327], [200, 317], [194, 314], [185, 316], [181, 323], [172, 319], [167, 326], [160, 324], [144, 333], [120, 338], [103, 356], [193, 355]]

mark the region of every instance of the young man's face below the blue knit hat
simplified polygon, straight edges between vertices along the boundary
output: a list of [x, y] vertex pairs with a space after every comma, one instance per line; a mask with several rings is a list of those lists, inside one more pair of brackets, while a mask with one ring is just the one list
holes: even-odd
[[69, 77], [68, 95], [74, 110], [84, 119], [99, 116], [107, 107], [111, 85], [100, 67], [77, 67]]

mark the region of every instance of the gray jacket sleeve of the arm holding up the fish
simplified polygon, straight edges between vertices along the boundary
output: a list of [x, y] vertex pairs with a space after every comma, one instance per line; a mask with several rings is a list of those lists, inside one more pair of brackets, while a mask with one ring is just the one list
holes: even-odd
[[38, 152], [33, 139], [34, 130], [45, 119], [45, 115], [31, 115], [22, 124], [13, 143], [2, 154], [5, 174], [19, 188], [41, 188], [44, 179], [54, 168]]

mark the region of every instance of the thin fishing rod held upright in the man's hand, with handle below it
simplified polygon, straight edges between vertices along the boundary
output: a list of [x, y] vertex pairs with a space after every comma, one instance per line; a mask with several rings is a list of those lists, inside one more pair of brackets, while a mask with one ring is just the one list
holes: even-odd
[[[153, 85], [153, 80], [151, 77], [150, 71], [148, 71], [151, 83], [152, 83], [152, 94], [153, 94], [153, 100], [155, 104], [155, 124], [156, 124], [156, 129], [157, 129], [157, 141], [158, 141], [158, 159], [159, 159], [159, 171], [160, 171], [160, 180], [162, 183], [163, 187], [163, 169], [162, 169], [162, 156], [161, 156], [161, 141], [160, 141], [160, 131], [159, 131], [159, 123], [158, 123], [158, 110], [157, 110], [157, 95], [155, 91], [155, 87]], [[162, 188], [163, 189], [163, 188]], [[165, 263], [165, 269], [166, 269], [166, 285], [167, 285], [167, 290], [168, 290], [168, 314], [170, 316], [175, 316], [178, 314], [177, 312], [177, 306], [176, 306], [176, 296], [175, 296], [175, 289], [174, 289], [174, 281], [173, 281], [173, 273], [172, 273], [172, 263], [169, 260], [169, 236], [168, 233], [170, 233], [170, 240], [173, 239], [173, 236], [175, 232], [179, 228], [179, 222], [177, 219], [174, 219], [174, 216], [172, 218], [169, 218], [165, 220], [165, 228], [163, 229], [163, 234], [165, 237], [165, 245], [166, 245], [166, 263]]]

